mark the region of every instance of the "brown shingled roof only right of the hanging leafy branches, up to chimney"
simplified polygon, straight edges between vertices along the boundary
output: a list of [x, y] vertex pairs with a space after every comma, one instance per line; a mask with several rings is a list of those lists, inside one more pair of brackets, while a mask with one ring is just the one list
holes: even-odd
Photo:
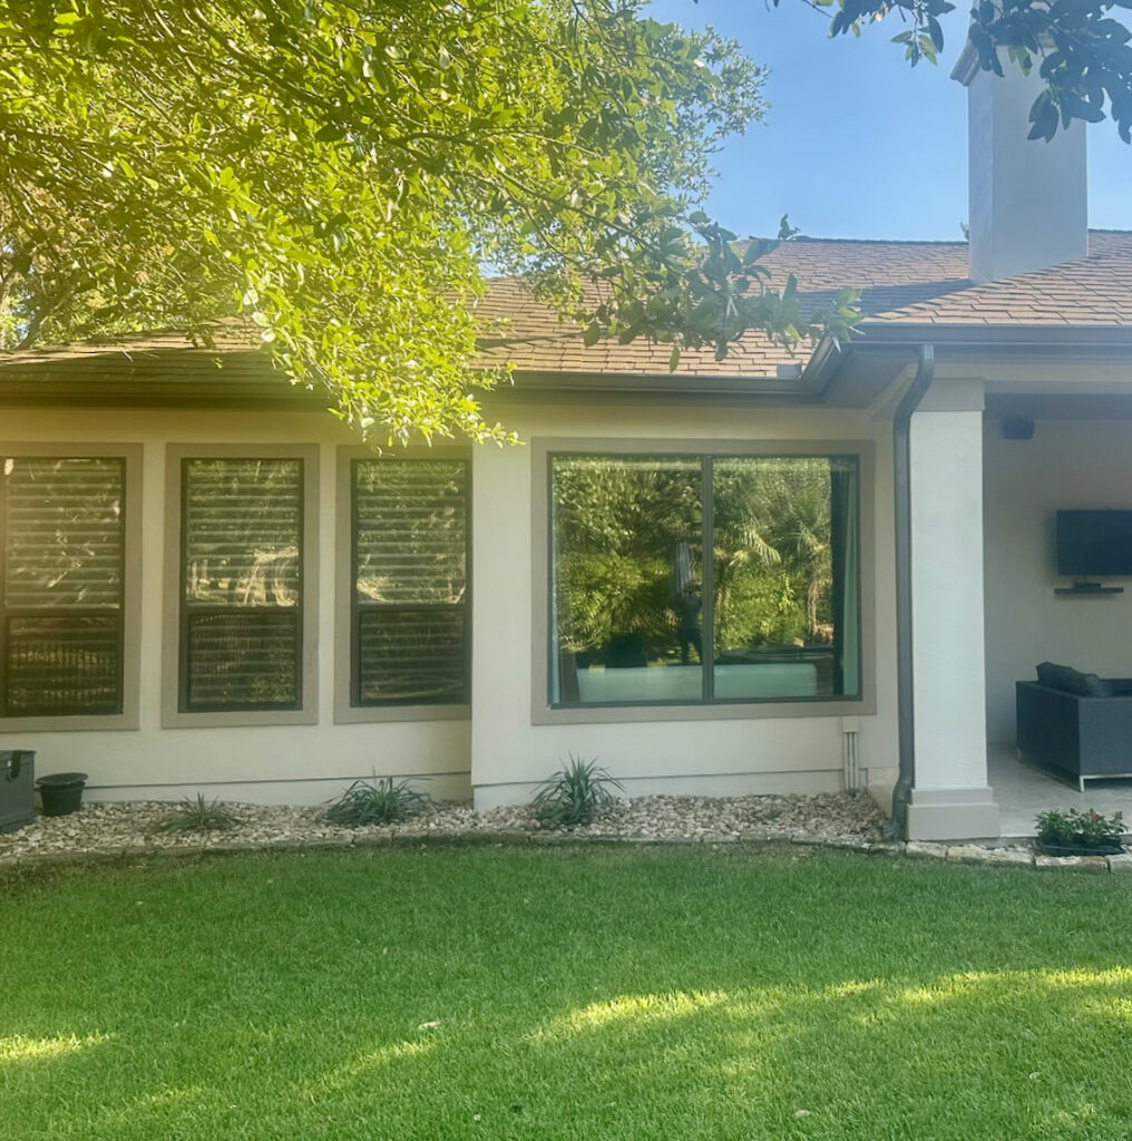
[[[766, 259], [771, 285], [798, 278], [809, 310], [828, 305], [844, 285], [860, 290], [864, 334], [889, 323], [939, 325], [1126, 325], [1132, 329], [1132, 232], [1092, 230], [1089, 256], [1008, 281], [977, 285], [968, 276], [965, 242], [860, 242], [795, 238]], [[509, 363], [531, 373], [668, 375], [669, 347], [582, 343], [581, 330], [559, 322], [511, 278], [491, 282], [477, 313], [485, 327], [480, 362]], [[778, 365], [801, 363], [766, 337], [749, 333], [723, 361], [710, 349], [682, 355], [685, 375], [774, 377]]]

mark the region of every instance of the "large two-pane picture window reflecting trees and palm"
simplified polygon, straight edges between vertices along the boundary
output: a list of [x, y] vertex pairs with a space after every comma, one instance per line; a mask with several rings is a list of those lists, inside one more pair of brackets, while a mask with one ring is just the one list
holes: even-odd
[[551, 705], [860, 696], [856, 456], [552, 454], [550, 483]]

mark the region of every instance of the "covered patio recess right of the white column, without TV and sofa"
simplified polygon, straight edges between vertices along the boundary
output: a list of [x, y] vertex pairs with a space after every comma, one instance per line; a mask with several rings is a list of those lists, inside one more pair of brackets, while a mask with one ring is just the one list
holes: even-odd
[[[1122, 812], [1132, 826], [1132, 779], [1089, 779], [1082, 792], [1070, 774], [1022, 760], [1017, 750], [1016, 682], [1036, 680], [1038, 663], [1132, 677], [1132, 578], [1090, 575], [1109, 590], [1070, 593], [1074, 580], [1059, 574], [1057, 557], [1058, 511], [1132, 509], [1132, 394], [1124, 377], [1103, 379], [1032, 378], [1028, 393], [987, 386], [987, 778], [1003, 836], [1033, 835], [1035, 816], [1049, 809]], [[1050, 756], [1060, 747], [1048, 748]], [[1123, 750], [1122, 739], [1111, 747]], [[1126, 747], [1122, 768], [1132, 771], [1132, 738]]]

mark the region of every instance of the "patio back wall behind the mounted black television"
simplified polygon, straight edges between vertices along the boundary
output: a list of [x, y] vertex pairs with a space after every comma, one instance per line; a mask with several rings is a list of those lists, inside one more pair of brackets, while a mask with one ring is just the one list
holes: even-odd
[[1127, 593], [1066, 598], [1056, 565], [1058, 509], [1132, 509], [1132, 421], [1038, 420], [1030, 440], [985, 426], [987, 735], [1014, 741], [1014, 682], [1042, 661], [1132, 677]]

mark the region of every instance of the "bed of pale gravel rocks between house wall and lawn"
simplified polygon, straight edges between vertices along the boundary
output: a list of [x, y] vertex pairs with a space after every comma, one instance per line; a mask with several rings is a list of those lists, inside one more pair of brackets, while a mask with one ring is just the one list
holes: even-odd
[[225, 803], [238, 822], [217, 832], [159, 832], [177, 806], [161, 801], [86, 803], [71, 816], [37, 817], [18, 832], [0, 834], [0, 861], [32, 856], [137, 852], [167, 849], [272, 848], [374, 843], [395, 836], [461, 836], [484, 833], [574, 835], [629, 841], [737, 840], [840, 841], [868, 844], [880, 839], [883, 814], [866, 795], [823, 796], [637, 796], [617, 800], [592, 825], [545, 827], [529, 807], [476, 812], [466, 806], [430, 808], [393, 826], [347, 828], [325, 820], [322, 807]]

